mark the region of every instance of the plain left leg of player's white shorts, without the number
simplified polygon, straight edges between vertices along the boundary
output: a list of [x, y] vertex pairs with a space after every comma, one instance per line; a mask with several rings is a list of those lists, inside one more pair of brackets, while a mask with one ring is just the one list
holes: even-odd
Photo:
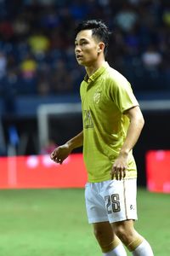
[[85, 201], [89, 224], [108, 222], [105, 201], [99, 195], [99, 186], [100, 183], [87, 183], [85, 186]]

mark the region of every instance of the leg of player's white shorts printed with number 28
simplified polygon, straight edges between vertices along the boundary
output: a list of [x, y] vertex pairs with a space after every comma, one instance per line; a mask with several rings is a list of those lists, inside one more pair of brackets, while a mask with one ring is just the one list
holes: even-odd
[[136, 178], [106, 182], [102, 196], [110, 223], [137, 219]]

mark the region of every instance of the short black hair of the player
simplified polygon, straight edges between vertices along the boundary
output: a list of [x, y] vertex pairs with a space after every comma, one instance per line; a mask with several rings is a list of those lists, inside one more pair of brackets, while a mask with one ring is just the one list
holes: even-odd
[[82, 30], [92, 30], [92, 35], [105, 44], [104, 54], [107, 54], [111, 32], [102, 20], [84, 20], [78, 24], [76, 35]]

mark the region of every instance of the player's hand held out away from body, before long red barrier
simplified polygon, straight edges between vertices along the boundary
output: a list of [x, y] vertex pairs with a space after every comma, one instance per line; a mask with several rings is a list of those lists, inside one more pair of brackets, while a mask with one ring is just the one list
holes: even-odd
[[64, 145], [55, 148], [54, 151], [50, 154], [50, 158], [51, 160], [54, 160], [55, 163], [59, 163], [59, 165], [61, 165], [69, 154], [71, 154], [71, 149], [65, 143]]

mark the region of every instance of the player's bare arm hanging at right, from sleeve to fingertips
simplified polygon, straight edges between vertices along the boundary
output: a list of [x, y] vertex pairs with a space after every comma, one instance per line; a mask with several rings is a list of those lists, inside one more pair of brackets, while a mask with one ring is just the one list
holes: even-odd
[[144, 118], [139, 107], [130, 108], [124, 114], [130, 119], [130, 124], [120, 154], [111, 170], [111, 177], [116, 177], [116, 179], [122, 179], [126, 176], [128, 154], [137, 143], [144, 126]]

